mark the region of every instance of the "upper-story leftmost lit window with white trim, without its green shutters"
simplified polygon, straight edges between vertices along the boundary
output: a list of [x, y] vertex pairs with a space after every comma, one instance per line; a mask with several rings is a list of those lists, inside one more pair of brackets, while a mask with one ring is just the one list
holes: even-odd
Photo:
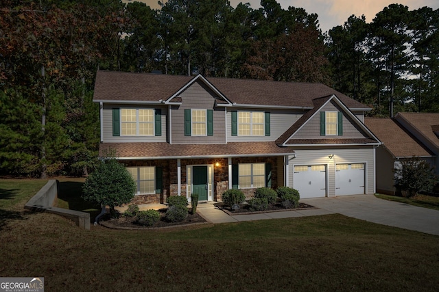
[[121, 135], [153, 136], [154, 109], [121, 109]]

